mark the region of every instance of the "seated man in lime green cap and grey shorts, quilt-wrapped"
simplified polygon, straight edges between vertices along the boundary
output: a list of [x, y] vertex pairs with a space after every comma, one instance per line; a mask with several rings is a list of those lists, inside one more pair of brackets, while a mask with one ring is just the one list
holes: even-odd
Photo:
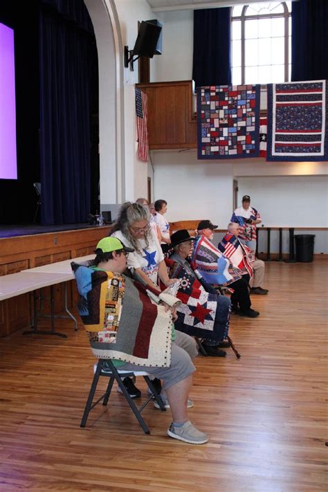
[[145, 370], [163, 379], [173, 419], [167, 434], [190, 444], [204, 444], [207, 435], [188, 420], [195, 367], [185, 350], [167, 341], [174, 338], [175, 313], [150, 300], [143, 284], [122, 275], [132, 251], [118, 238], [104, 237], [95, 250], [93, 266], [72, 266], [91, 350], [98, 358], [111, 359], [120, 370]]

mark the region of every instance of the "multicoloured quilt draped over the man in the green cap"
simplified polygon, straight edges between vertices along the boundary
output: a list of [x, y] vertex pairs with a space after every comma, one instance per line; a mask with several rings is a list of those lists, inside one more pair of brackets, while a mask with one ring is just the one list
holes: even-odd
[[118, 273], [72, 264], [79, 312], [93, 355], [141, 366], [169, 367], [172, 316], [142, 284]]

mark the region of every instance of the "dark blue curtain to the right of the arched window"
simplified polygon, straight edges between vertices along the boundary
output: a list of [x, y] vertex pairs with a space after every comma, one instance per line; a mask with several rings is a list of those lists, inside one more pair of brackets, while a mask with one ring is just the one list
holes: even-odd
[[328, 79], [328, 1], [291, 4], [291, 80]]

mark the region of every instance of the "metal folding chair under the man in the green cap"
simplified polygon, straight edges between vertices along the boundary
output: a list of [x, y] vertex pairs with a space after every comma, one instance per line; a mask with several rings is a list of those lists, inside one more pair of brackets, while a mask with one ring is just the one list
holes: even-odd
[[[103, 366], [104, 362], [106, 362], [106, 367]], [[93, 381], [91, 384], [91, 389], [89, 392], [89, 397], [86, 401], [86, 406], [84, 408], [84, 414], [82, 417], [82, 421], [80, 423], [80, 427], [85, 427], [86, 426], [86, 420], [88, 419], [89, 412], [92, 410], [100, 401], [102, 401], [102, 405], [107, 406], [109, 396], [111, 394], [111, 388], [113, 388], [113, 382], [117, 381], [118, 385], [120, 386], [120, 389], [122, 390], [122, 394], [124, 394], [125, 398], [127, 399], [127, 403], [129, 403], [129, 406], [131, 407], [131, 410], [134, 412], [134, 415], [136, 416], [136, 419], [140, 423], [140, 426], [143, 428], [143, 431], [145, 434], [150, 434], [150, 430], [145, 423], [143, 417], [141, 417], [141, 412], [147, 406], [149, 401], [152, 400], [154, 397], [161, 408], [163, 412], [165, 412], [165, 406], [163, 403], [163, 400], [161, 399], [161, 396], [156, 392], [154, 385], [152, 383], [152, 380], [149, 379], [149, 374], [145, 371], [120, 371], [119, 369], [116, 369], [116, 367], [113, 365], [111, 360], [108, 359], [100, 359], [98, 363], [96, 363], [93, 366], [93, 370], [95, 372], [95, 375], [93, 376]], [[109, 378], [109, 383], [107, 385], [107, 390], [102, 394], [100, 398], [98, 398], [97, 401], [93, 403], [93, 397], [95, 395], [95, 390], [97, 389], [98, 381], [100, 376], [106, 376]], [[127, 389], [125, 388], [125, 385], [122, 382], [121, 376], [127, 377], [133, 377], [133, 376], [143, 376], [145, 379], [148, 388], [151, 390], [152, 394], [148, 397], [148, 399], [143, 403], [140, 408], [136, 406], [136, 403], [134, 403], [133, 399], [130, 397], [129, 393], [127, 392]]]

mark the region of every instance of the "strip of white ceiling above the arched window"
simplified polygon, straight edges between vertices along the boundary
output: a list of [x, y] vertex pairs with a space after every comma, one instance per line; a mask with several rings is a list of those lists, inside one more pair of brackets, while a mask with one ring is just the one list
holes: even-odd
[[[255, 3], [259, 0], [147, 0], [154, 12], [188, 10], [198, 8], [230, 7], [239, 3]], [[269, 1], [269, 0], [262, 0]]]

